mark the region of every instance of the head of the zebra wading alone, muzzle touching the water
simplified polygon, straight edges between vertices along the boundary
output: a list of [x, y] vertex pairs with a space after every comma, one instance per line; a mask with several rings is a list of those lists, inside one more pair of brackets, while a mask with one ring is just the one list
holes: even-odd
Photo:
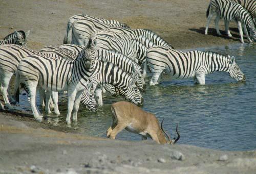
[[[230, 56], [228, 57], [230, 58]], [[233, 56], [230, 58], [229, 75], [231, 78], [236, 79], [238, 82], [245, 82], [245, 75], [239, 68]]]

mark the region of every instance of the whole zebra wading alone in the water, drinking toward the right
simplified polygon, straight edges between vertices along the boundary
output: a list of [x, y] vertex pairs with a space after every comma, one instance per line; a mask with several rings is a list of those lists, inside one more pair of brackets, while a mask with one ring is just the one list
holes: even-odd
[[245, 81], [244, 73], [234, 60], [234, 57], [212, 52], [181, 52], [165, 46], [148, 49], [146, 61], [152, 70], [150, 85], [160, 81], [162, 72], [169, 73], [174, 78], [194, 78], [196, 83], [204, 85], [205, 75], [215, 71], [226, 71], [230, 77]]

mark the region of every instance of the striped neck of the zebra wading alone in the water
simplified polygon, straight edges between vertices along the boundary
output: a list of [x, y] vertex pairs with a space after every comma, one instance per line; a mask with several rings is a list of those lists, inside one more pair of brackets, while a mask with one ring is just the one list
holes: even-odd
[[225, 71], [229, 72], [230, 70], [230, 59], [227, 56], [206, 52], [205, 53], [205, 69], [206, 74], [212, 73], [215, 71]]

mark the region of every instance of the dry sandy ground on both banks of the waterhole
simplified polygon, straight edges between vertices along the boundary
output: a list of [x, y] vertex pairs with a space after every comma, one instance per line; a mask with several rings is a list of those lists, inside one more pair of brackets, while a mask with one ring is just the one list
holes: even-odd
[[[238, 43], [219, 37], [211, 22], [204, 35], [208, 1], [0, 1], [0, 38], [30, 30], [28, 47], [60, 45], [68, 18], [88, 14], [155, 31], [179, 49]], [[220, 29], [224, 29], [220, 22]], [[224, 33], [224, 32], [223, 32]], [[245, 40], [247, 41], [247, 40]], [[68, 129], [68, 128], [67, 128]], [[63, 130], [28, 113], [0, 112], [0, 173], [254, 173], [256, 152], [223, 152], [183, 144], [118, 141]], [[67, 133], [69, 132], [69, 133]], [[181, 137], [182, 138], [182, 137]], [[180, 154], [182, 153], [182, 155]], [[227, 156], [224, 156], [227, 155]], [[177, 156], [180, 160], [173, 159]], [[220, 161], [220, 157], [223, 161]]]

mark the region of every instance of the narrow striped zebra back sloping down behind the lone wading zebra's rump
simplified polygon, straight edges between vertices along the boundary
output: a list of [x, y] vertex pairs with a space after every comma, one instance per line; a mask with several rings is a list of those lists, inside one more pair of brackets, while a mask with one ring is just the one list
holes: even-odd
[[166, 46], [169, 48], [174, 48], [172, 45], [170, 45], [168, 42], [166, 42], [163, 38], [158, 36], [156, 33], [154, 33], [151, 30], [148, 29], [126, 29], [126, 28], [118, 28], [118, 27], [110, 27], [108, 29], [105, 29], [106, 31], [111, 31], [114, 33], [121, 33], [125, 34], [131, 39], [140, 40], [139, 36], [143, 35], [148, 40], [152, 41], [155, 45], [159, 46]]

